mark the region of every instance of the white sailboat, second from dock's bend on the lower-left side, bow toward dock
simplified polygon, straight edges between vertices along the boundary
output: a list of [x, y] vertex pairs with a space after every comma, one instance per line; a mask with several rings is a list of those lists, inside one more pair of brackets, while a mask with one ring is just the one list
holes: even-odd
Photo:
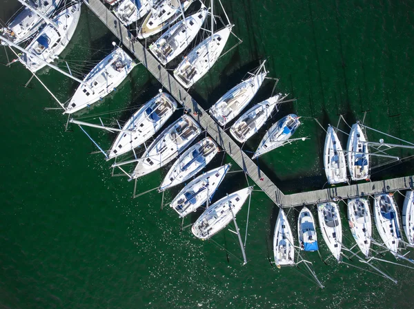
[[179, 217], [185, 217], [207, 201], [210, 202], [231, 164], [226, 164], [217, 169], [212, 169], [199, 175], [195, 180], [186, 185], [170, 203], [170, 207], [177, 211]]

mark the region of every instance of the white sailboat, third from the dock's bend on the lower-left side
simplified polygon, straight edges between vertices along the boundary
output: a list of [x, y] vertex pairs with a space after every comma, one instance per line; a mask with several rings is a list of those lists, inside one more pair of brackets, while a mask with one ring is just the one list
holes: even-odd
[[159, 191], [165, 191], [197, 175], [213, 160], [218, 151], [217, 144], [211, 138], [204, 138], [188, 148], [172, 165], [159, 186]]

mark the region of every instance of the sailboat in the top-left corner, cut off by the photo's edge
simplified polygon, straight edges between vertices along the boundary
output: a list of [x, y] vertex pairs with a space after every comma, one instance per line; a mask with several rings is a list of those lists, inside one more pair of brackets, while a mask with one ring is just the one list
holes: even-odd
[[[25, 1], [26, 6], [21, 12], [14, 17], [5, 28], [0, 29], [0, 33], [6, 36], [6, 39], [12, 41], [15, 44], [23, 43], [30, 39], [31, 36], [36, 34], [39, 29], [44, 25], [45, 21], [41, 16], [35, 14], [33, 10], [40, 12], [46, 17], [52, 17], [55, 14], [57, 8], [59, 8], [62, 0], [43, 1], [43, 0], [30, 0]], [[30, 6], [30, 8], [28, 7]]]

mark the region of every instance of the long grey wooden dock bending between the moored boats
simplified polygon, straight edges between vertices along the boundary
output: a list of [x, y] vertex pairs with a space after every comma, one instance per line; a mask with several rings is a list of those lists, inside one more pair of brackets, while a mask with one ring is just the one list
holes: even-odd
[[184, 87], [181, 87], [175, 78], [158, 63], [157, 59], [146, 50], [144, 45], [135, 41], [131, 43], [131, 34], [128, 29], [122, 25], [108, 8], [100, 0], [83, 0], [86, 6], [94, 12], [99, 19], [108, 27], [108, 29], [117, 36], [119, 41], [137, 57], [139, 61], [158, 79], [163, 87], [175, 97], [177, 102], [190, 109], [199, 111], [197, 116], [193, 116], [199, 122], [208, 134], [214, 138], [217, 144], [224, 149], [228, 155], [235, 160], [250, 178], [257, 184], [260, 189], [279, 207], [300, 206], [303, 204], [315, 204], [325, 202], [333, 198], [351, 198], [362, 195], [370, 195], [383, 191], [391, 192], [413, 187], [413, 176], [404, 178], [395, 178], [380, 182], [368, 182], [365, 184], [354, 184], [347, 187], [338, 187], [304, 193], [295, 193], [284, 195], [276, 185], [263, 173], [259, 167], [251, 160], [246, 153], [240, 149], [239, 145], [230, 138], [226, 131], [208, 115], [204, 109], [188, 94]]

